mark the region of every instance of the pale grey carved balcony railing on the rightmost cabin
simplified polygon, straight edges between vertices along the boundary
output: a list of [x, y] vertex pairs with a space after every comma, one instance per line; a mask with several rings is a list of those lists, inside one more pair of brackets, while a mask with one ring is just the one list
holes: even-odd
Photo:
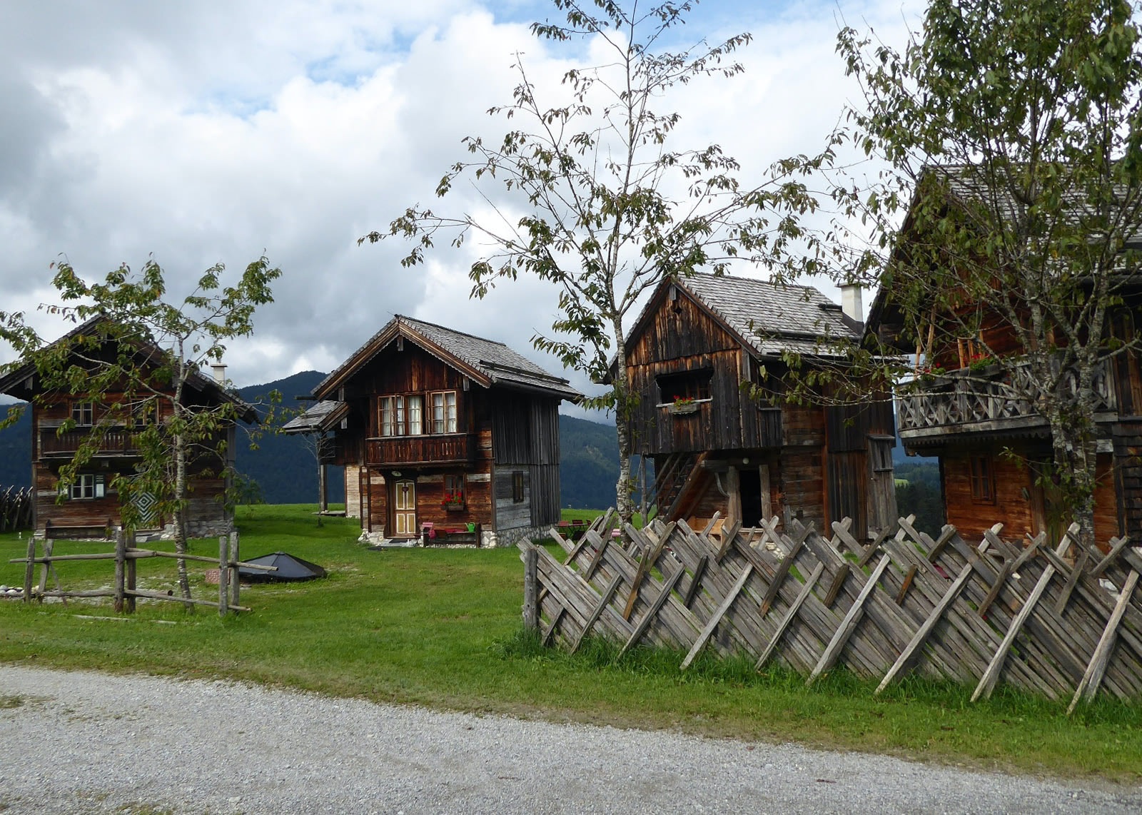
[[[964, 369], [928, 381], [917, 380], [915, 387], [915, 393], [904, 394], [896, 401], [901, 431], [987, 421], [1042, 419], [1046, 422], [1027, 398], [1035, 393], [1036, 386], [1026, 362], [1007, 366], [1002, 374]], [[1070, 394], [1077, 392], [1075, 371], [1063, 374], [1063, 387]], [[1092, 390], [1095, 413], [1117, 411], [1113, 374], [1105, 363], [1095, 366]]]

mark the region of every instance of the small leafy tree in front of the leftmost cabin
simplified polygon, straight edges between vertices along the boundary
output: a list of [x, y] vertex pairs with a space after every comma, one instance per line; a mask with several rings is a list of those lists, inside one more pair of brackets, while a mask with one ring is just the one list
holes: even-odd
[[[134, 470], [116, 475], [110, 485], [119, 494], [123, 525], [139, 526], [142, 510], [135, 499], [147, 494], [154, 501], [151, 511], [174, 521], [175, 551], [186, 554], [192, 475], [225, 477], [226, 430], [240, 412], [238, 401], [192, 400], [193, 380], [209, 376], [203, 366], [222, 361], [227, 341], [252, 332], [255, 309], [273, 301], [270, 284], [281, 271], [262, 257], [235, 284], [224, 285], [225, 267], [218, 264], [176, 305], [163, 299], [167, 283], [153, 259], [138, 273], [123, 265], [97, 283], [87, 283], [70, 263], [53, 267], [61, 302], [42, 310], [80, 324], [105, 318], [93, 322], [89, 331], [46, 342], [23, 314], [0, 313], [0, 338], [21, 355], [10, 366], [35, 365], [43, 392], [39, 400], [50, 403], [61, 394], [82, 394], [102, 408], [72, 461], [61, 468], [62, 494], [111, 429], [131, 427], [139, 451]], [[10, 415], [6, 423], [14, 420]], [[74, 425], [74, 419], [66, 420], [59, 433]], [[178, 584], [182, 597], [190, 599], [183, 559]]]

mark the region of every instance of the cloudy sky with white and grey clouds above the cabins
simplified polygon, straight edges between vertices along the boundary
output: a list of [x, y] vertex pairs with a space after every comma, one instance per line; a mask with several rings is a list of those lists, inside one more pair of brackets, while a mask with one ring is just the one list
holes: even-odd
[[[856, 98], [834, 53], [841, 21], [899, 46], [920, 10], [708, 0], [687, 40], [754, 41], [738, 56], [743, 75], [668, 100], [679, 135], [721, 144], [743, 180], [759, 179], [773, 160], [819, 147]], [[558, 371], [529, 341], [552, 322], [553, 289], [521, 280], [469, 301], [471, 248], [405, 269], [407, 245], [356, 243], [418, 202], [481, 205], [467, 187], [443, 203], [433, 191], [465, 156], [464, 136], [502, 132], [485, 112], [510, 99], [513, 55], [541, 80], [589, 60], [581, 46], [530, 35], [550, 14], [532, 0], [0, 3], [0, 310], [62, 333], [35, 314], [55, 301], [49, 264], [61, 257], [94, 280], [153, 255], [179, 292], [216, 263], [240, 272], [265, 252], [283, 275], [256, 337], [227, 354], [240, 386], [329, 371], [393, 314], [505, 341]]]

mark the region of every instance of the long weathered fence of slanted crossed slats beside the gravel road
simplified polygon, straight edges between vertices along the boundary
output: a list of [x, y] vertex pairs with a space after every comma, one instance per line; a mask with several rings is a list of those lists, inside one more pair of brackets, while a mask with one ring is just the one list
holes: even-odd
[[[576, 651], [587, 634], [636, 645], [748, 653], [757, 669], [782, 663], [813, 683], [843, 664], [876, 693], [908, 671], [1045, 695], [1142, 699], [1142, 556], [1126, 539], [1085, 551], [1071, 527], [1013, 544], [996, 524], [978, 544], [944, 526], [932, 540], [901, 518], [868, 546], [833, 525], [833, 539], [777, 518], [713, 532], [685, 522], [627, 526], [610, 514], [578, 542], [553, 536], [562, 563], [521, 543], [524, 622], [545, 644]], [[621, 655], [621, 654], [620, 654]]]

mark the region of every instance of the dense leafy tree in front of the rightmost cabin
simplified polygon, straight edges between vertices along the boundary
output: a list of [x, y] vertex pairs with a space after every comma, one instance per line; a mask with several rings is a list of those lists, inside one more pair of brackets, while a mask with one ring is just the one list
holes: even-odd
[[852, 29], [838, 45], [864, 96], [844, 137], [887, 168], [836, 186], [872, 227], [850, 232], [868, 243], [844, 274], [890, 289], [918, 358], [971, 338], [960, 366], [999, 369], [988, 381], [1049, 427], [1043, 479], [1087, 541], [1100, 380], [1137, 342], [1113, 324], [1142, 259], [1137, 15], [1126, 0], [933, 0], [902, 51]]

